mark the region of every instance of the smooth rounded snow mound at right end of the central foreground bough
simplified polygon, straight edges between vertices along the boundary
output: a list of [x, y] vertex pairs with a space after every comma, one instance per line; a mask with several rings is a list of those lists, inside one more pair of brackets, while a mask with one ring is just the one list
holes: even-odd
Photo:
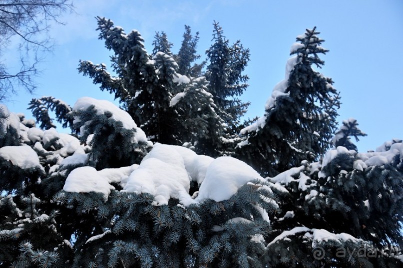
[[199, 188], [196, 200], [226, 200], [247, 182], [260, 179], [259, 173], [247, 163], [231, 156], [216, 158], [207, 168], [206, 177]]

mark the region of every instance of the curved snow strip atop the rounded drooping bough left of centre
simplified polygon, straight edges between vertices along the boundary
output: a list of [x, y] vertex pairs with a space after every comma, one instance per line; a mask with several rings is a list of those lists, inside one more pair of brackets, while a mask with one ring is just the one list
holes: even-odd
[[[108, 100], [95, 99], [92, 97], [80, 97], [74, 104], [73, 110], [86, 110], [89, 106], [94, 105], [96, 114], [103, 114], [107, 111], [112, 113], [111, 118], [116, 121], [121, 121], [123, 127], [126, 129], [136, 129], [135, 138], [138, 141], [147, 142], [147, 137], [144, 131], [137, 127], [136, 123], [131, 118], [130, 114], [120, 109], [118, 106]], [[80, 119], [74, 118], [74, 123], [79, 122]]]

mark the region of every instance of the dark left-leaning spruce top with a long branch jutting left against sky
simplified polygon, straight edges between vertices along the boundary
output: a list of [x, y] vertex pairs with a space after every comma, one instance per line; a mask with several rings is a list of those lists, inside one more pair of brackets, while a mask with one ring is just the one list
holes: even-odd
[[[183, 90], [181, 83], [189, 80], [177, 73], [178, 65], [170, 52], [165, 34], [154, 41], [154, 56], [144, 48], [144, 40], [136, 30], [129, 34], [115, 27], [111, 20], [98, 17], [99, 37], [105, 40], [117, 77], [106, 71], [104, 64], [81, 61], [80, 72], [93, 78], [102, 90], [114, 93], [122, 107], [139, 123], [150, 140], [168, 144], [185, 142], [177, 136], [177, 112], [169, 103]], [[165, 50], [157, 51], [157, 50]]]

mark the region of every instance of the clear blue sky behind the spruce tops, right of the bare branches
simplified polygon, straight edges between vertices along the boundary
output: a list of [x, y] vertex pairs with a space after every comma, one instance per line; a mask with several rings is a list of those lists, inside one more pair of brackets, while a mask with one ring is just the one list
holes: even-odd
[[10, 110], [24, 112], [32, 97], [52, 95], [73, 105], [81, 96], [113, 100], [76, 70], [79, 59], [109, 66], [110, 52], [98, 40], [95, 16], [112, 19], [126, 32], [137, 29], [149, 52], [156, 31], [165, 31], [173, 51], [179, 49], [184, 25], [200, 32], [199, 53], [210, 46], [213, 20], [232, 42], [250, 48], [245, 71], [249, 88], [242, 96], [252, 104], [248, 116], [261, 116], [274, 85], [284, 78], [290, 47], [306, 28], [317, 26], [323, 46], [321, 72], [341, 92], [339, 120], [354, 117], [368, 136], [359, 150], [375, 149], [403, 138], [403, 1], [402, 0], [82, 0], [67, 24], [54, 25], [53, 53], [45, 55], [34, 96], [20, 91]]

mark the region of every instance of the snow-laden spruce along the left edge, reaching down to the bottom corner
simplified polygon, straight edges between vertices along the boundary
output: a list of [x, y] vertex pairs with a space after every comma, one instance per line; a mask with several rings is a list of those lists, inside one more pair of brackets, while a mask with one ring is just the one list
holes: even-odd
[[0, 266], [69, 267], [60, 262], [71, 257], [61, 230], [68, 221], [59, 219], [70, 215], [50, 202], [65, 177], [53, 172], [85, 156], [86, 149], [71, 135], [43, 131], [5, 106], [2, 110]]

